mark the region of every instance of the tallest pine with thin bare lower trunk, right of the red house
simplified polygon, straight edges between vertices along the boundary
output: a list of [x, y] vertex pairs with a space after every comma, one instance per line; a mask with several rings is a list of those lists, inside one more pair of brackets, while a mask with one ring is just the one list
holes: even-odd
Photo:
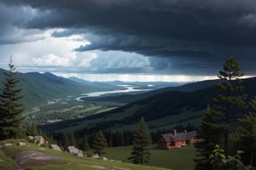
[[217, 98], [213, 98], [216, 115], [224, 117], [224, 151], [226, 156], [229, 151], [230, 116], [237, 114], [238, 108], [246, 107], [245, 99], [247, 95], [241, 94], [244, 87], [241, 85], [243, 81], [240, 77], [243, 76], [244, 73], [240, 72], [240, 66], [236, 58], [227, 58], [223, 71], [219, 71], [218, 75], [218, 78], [224, 82], [216, 85], [222, 93], [218, 94]]

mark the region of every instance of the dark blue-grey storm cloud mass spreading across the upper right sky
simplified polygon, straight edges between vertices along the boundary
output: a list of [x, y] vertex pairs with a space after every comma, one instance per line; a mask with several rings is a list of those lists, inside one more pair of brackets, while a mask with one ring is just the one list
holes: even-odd
[[[155, 56], [158, 58], [150, 59], [155, 70], [191, 68], [189, 71], [194, 71], [198, 65], [209, 70], [230, 55], [236, 55], [246, 66], [255, 63], [255, 0], [0, 2], [40, 11], [32, 20], [16, 26], [67, 29], [53, 33], [54, 37], [84, 35], [90, 44], [76, 51], [120, 50]], [[247, 71], [253, 72], [249, 67]]]

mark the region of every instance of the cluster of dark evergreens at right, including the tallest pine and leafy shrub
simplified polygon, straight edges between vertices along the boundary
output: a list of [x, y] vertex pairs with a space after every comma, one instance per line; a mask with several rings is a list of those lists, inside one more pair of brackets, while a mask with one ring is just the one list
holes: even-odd
[[[219, 94], [212, 98], [202, 115], [203, 139], [195, 144], [195, 169], [250, 169], [256, 166], [256, 98], [249, 105], [240, 65], [235, 57], [227, 58], [216, 84]], [[235, 120], [234, 117], [240, 117]], [[231, 127], [233, 129], [231, 129]]]

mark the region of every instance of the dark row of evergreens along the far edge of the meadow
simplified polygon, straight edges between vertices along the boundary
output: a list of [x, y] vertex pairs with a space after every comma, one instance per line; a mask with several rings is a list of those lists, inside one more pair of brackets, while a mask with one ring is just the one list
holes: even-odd
[[[188, 131], [196, 130], [196, 127], [191, 126], [190, 123], [184, 127], [182, 124], [174, 127], [178, 132], [183, 132], [185, 129]], [[82, 150], [82, 146], [84, 142], [89, 144], [91, 148], [93, 139], [95, 139], [96, 133], [99, 131], [98, 127], [85, 127], [81, 130], [77, 130], [74, 133], [61, 133], [61, 132], [53, 132], [47, 133], [49, 139], [54, 139], [56, 144], [59, 144], [62, 148], [67, 148], [69, 145], [74, 145], [79, 147]], [[108, 142], [108, 147], [116, 147], [116, 146], [128, 146], [132, 144], [132, 139], [134, 135], [134, 131], [124, 130], [124, 131], [104, 131], [102, 130], [105, 138]], [[151, 132], [150, 136], [152, 138], [152, 143], [157, 144], [160, 136], [164, 133], [172, 133], [171, 129], [159, 129], [155, 132]], [[84, 141], [86, 140], [86, 141]], [[88, 148], [88, 147], [87, 147]]]

